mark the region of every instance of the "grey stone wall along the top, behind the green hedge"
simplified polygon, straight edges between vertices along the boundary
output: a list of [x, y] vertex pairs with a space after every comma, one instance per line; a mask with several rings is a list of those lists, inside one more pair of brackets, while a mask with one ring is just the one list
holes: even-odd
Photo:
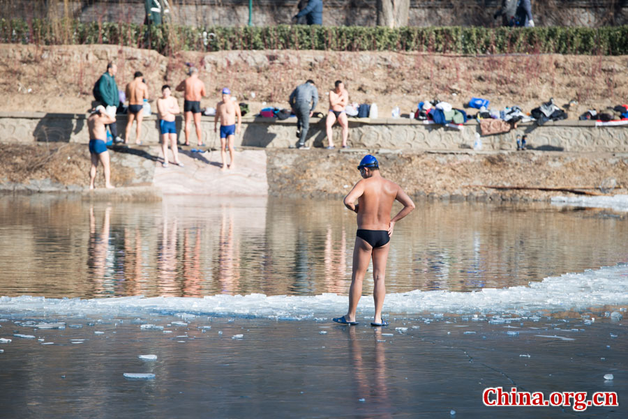
[[[59, 1], [56, 15], [66, 13], [84, 22], [144, 22], [144, 0]], [[257, 0], [253, 2], [252, 23], [255, 26], [290, 24], [298, 12], [299, 0]], [[493, 13], [501, 0], [410, 0], [410, 26], [490, 26]], [[549, 4], [548, 4], [549, 3]], [[42, 17], [45, 7], [33, 0], [13, 0], [7, 12], [13, 17]], [[195, 26], [244, 26], [248, 24], [248, 1], [243, 0], [186, 0], [170, 1], [169, 17], [177, 24]], [[329, 26], [375, 26], [377, 2], [325, 0], [323, 24]], [[452, 13], [452, 9], [456, 13]], [[54, 10], [48, 13], [55, 13]], [[628, 4], [613, 0], [544, 0], [532, 1], [532, 13], [537, 25], [599, 26], [626, 24]]]

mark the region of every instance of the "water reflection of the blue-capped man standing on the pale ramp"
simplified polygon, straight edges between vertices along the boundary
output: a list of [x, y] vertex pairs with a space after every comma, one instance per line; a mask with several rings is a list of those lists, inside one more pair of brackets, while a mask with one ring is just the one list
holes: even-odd
[[[230, 209], [230, 208], [229, 208]], [[240, 246], [234, 235], [233, 213], [223, 207], [223, 220], [220, 223], [218, 240], [218, 280], [224, 294], [233, 294], [239, 289]]]

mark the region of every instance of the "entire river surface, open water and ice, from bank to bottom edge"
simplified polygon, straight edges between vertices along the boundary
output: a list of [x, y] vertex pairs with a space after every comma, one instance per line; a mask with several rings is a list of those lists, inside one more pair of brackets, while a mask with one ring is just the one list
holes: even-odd
[[[627, 222], [576, 209], [419, 203], [371, 328], [368, 275], [361, 324], [330, 320], [355, 229], [336, 201], [5, 199], [0, 416], [624, 419]], [[620, 406], [504, 413], [497, 386]]]

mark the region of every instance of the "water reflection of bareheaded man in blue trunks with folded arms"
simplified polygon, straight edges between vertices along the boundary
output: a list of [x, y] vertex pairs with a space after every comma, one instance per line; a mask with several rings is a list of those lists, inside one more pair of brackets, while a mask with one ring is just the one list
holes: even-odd
[[162, 296], [181, 296], [177, 287], [177, 218], [174, 218], [170, 231], [168, 219], [163, 218], [161, 247], [157, 257], [158, 289]]

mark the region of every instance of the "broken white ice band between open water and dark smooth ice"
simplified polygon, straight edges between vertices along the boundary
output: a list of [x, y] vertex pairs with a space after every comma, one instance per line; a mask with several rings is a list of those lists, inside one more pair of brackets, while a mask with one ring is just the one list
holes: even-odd
[[[424, 312], [474, 314], [530, 313], [536, 310], [583, 310], [588, 307], [628, 304], [628, 265], [619, 264], [585, 271], [547, 277], [540, 282], [530, 282], [527, 286], [504, 289], [485, 288], [474, 292], [457, 291], [408, 291], [388, 294], [386, 309], [389, 312], [419, 314]], [[44, 298], [33, 296], [0, 297], [3, 312], [27, 311], [30, 313], [57, 314], [175, 314], [185, 312], [188, 318], [196, 315], [219, 317], [267, 318], [276, 320], [301, 320], [320, 318], [321, 314], [334, 314], [346, 310], [347, 296], [320, 294], [317, 296], [246, 296], [218, 294], [204, 298], [153, 297], [143, 296], [120, 298]], [[373, 307], [360, 306], [364, 314], [371, 314]], [[611, 319], [619, 319], [618, 314]], [[469, 318], [467, 318], [469, 319]], [[532, 317], [530, 317], [532, 319]], [[231, 320], [231, 319], [230, 319]], [[532, 319], [534, 321], [534, 319]], [[515, 319], [493, 316], [488, 322], [493, 324], [510, 323]], [[588, 321], [585, 321], [587, 323]], [[163, 330], [146, 321], [142, 329]], [[424, 323], [429, 323], [426, 319]], [[33, 323], [33, 326], [36, 323]], [[172, 326], [189, 326], [182, 321], [173, 321]]]

